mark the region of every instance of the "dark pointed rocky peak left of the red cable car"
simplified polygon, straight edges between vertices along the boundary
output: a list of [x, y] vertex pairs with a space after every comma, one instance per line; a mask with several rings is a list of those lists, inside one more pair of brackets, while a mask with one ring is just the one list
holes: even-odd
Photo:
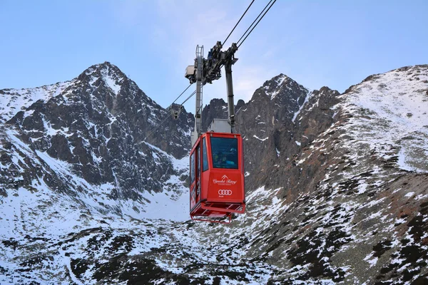
[[[73, 175], [90, 185], [115, 185], [111, 197], [121, 192], [124, 199], [138, 199], [140, 192], [161, 191], [163, 182], [175, 174], [164, 157], [155, 161], [151, 145], [177, 158], [190, 149], [190, 115], [184, 110], [178, 120], [169, 118], [158, 126], [168, 115], [136, 83], [106, 62], [91, 66], [46, 101], [37, 100], [6, 124], [14, 125], [18, 137], [32, 150], [67, 162]], [[54, 189], [71, 193], [76, 188], [55, 171], [51, 175], [55, 181], [49, 185]]]

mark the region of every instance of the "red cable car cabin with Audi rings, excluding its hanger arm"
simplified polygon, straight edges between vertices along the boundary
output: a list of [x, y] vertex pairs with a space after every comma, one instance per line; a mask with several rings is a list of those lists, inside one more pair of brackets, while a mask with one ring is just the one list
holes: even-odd
[[235, 133], [200, 135], [190, 152], [190, 217], [228, 217], [230, 223], [232, 213], [244, 211], [243, 139]]

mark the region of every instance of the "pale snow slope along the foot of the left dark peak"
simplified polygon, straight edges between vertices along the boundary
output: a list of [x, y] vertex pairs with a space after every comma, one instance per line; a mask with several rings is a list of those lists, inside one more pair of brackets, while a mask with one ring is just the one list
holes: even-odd
[[[142, 192], [138, 199], [126, 197], [117, 199], [111, 196], [112, 190], [117, 188], [115, 183], [97, 185], [87, 182], [76, 175], [73, 171], [73, 164], [51, 157], [46, 151], [41, 152], [32, 149], [30, 145], [20, 140], [16, 130], [6, 130], [4, 133], [0, 133], [0, 138], [3, 155], [8, 157], [8, 160], [0, 161], [0, 173], [3, 177], [0, 180], [1, 193], [6, 197], [14, 197], [16, 189], [24, 191], [24, 188], [41, 193], [62, 192], [64, 198], [83, 204], [93, 212], [126, 214], [134, 218], [149, 217], [173, 220], [188, 218], [187, 197], [182, 195], [187, 188], [183, 186], [183, 182], [177, 175], [168, 175], [168, 180], [164, 182], [165, 190], [176, 189], [176, 192]], [[9, 146], [9, 143], [12, 145]], [[173, 171], [178, 174], [187, 171], [188, 157], [176, 159], [158, 147], [148, 143], [147, 145], [146, 155], [156, 157], [157, 163], [168, 162], [173, 167]], [[38, 171], [31, 173], [34, 172], [33, 169]], [[47, 177], [60, 180], [61, 184], [46, 185], [46, 179], [49, 180]], [[63, 189], [56, 189], [52, 185], [57, 187], [63, 185]], [[65, 191], [66, 189], [68, 190]], [[78, 192], [70, 193], [69, 189], [78, 190]], [[1, 207], [5, 206], [6, 204], [1, 205]], [[170, 214], [170, 210], [174, 210], [175, 214]], [[5, 226], [5, 228], [7, 227]]]

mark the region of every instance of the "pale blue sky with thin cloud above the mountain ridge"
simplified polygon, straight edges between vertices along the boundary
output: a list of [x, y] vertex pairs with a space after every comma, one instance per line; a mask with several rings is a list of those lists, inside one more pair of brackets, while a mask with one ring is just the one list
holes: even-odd
[[[205, 46], [206, 57], [248, 4], [0, 0], [0, 89], [71, 80], [110, 61], [165, 108], [188, 86], [184, 69], [193, 64], [195, 46]], [[226, 47], [265, 4], [255, 0]], [[427, 12], [428, 1], [417, 0], [277, 0], [235, 54], [235, 96], [248, 101], [279, 73], [310, 89], [343, 92], [373, 73], [427, 64]], [[204, 103], [226, 100], [225, 90], [223, 79], [205, 86]], [[185, 108], [194, 112], [193, 101]]]

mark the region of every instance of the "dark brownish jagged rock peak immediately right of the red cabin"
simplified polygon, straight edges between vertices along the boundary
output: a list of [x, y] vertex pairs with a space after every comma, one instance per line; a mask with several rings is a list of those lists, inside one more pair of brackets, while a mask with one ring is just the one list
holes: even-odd
[[[339, 95], [327, 87], [310, 92], [280, 74], [255, 90], [250, 102], [238, 101], [236, 129], [244, 138], [246, 185], [295, 189], [294, 195], [304, 191], [297, 185], [313, 188], [323, 176], [318, 171], [322, 161], [307, 169], [295, 162], [332, 125], [331, 108], [339, 103]], [[228, 118], [223, 99], [211, 100], [203, 109], [204, 128], [213, 118]]]

